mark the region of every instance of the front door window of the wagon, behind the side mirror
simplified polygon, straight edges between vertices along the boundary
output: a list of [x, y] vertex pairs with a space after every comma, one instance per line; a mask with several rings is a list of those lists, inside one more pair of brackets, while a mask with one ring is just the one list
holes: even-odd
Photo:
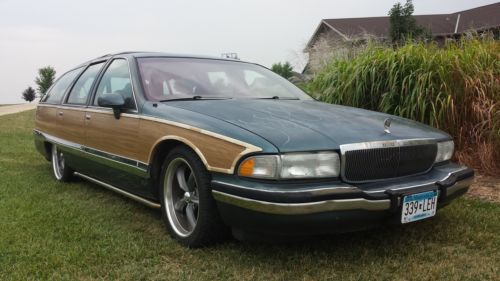
[[126, 109], [136, 109], [128, 62], [125, 59], [115, 59], [108, 66], [99, 82], [93, 105], [99, 106], [99, 97], [110, 93], [122, 95]]

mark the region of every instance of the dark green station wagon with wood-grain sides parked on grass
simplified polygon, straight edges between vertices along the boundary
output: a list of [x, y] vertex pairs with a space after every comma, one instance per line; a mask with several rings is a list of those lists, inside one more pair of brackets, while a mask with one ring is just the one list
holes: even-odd
[[54, 176], [161, 209], [184, 245], [427, 219], [471, 169], [435, 128], [318, 102], [247, 62], [119, 53], [62, 75], [34, 130]]

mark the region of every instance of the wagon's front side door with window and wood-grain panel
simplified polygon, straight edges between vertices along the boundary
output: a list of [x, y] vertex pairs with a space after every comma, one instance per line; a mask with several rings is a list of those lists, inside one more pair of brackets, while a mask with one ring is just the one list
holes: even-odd
[[[125, 100], [125, 108], [118, 119], [110, 108], [99, 106], [99, 98], [109, 93], [121, 94]], [[144, 195], [141, 185], [147, 177], [147, 169], [137, 161], [137, 117], [128, 62], [114, 59], [102, 75], [91, 106], [85, 112], [84, 145], [86, 153], [93, 156], [93, 176]]]

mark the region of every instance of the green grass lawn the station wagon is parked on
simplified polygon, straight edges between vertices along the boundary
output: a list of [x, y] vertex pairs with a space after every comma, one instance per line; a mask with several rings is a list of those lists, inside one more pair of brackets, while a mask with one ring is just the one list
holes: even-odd
[[460, 199], [404, 227], [189, 250], [158, 211], [61, 184], [34, 111], [0, 117], [0, 280], [499, 280], [500, 204]]

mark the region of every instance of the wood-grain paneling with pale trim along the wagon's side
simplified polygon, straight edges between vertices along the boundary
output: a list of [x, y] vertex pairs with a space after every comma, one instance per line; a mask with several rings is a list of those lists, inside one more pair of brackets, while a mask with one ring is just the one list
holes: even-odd
[[[59, 116], [59, 112], [63, 115]], [[145, 164], [152, 162], [156, 145], [175, 139], [190, 146], [208, 170], [222, 173], [232, 173], [243, 155], [261, 151], [248, 143], [186, 124], [137, 114], [122, 114], [116, 119], [111, 111], [91, 108], [39, 106], [36, 128], [88, 148]]]

